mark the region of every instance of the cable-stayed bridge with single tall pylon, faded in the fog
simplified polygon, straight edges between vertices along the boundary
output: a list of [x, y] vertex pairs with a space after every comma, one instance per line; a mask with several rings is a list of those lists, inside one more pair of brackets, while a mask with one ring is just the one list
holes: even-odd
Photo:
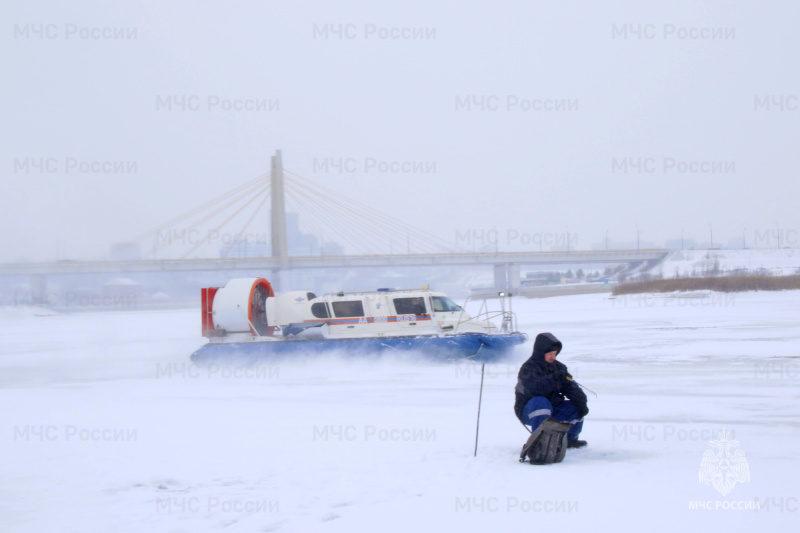
[[47, 276], [65, 274], [268, 270], [281, 288], [281, 273], [297, 269], [492, 266], [495, 286], [518, 287], [523, 265], [633, 264], [668, 253], [468, 251], [284, 169], [280, 151], [269, 173], [132, 241], [144, 258], [2, 264], [0, 275], [30, 275], [41, 288]]

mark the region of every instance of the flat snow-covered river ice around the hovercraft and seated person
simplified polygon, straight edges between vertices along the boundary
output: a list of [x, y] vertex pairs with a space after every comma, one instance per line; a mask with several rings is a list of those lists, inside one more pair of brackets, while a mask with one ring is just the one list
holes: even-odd
[[[473, 458], [479, 366], [211, 375], [194, 310], [0, 309], [0, 531], [796, 531], [800, 294], [689, 296], [515, 301], [599, 395], [550, 466], [517, 462], [530, 343], [487, 366]], [[750, 472], [726, 495], [698, 477], [723, 428]]]

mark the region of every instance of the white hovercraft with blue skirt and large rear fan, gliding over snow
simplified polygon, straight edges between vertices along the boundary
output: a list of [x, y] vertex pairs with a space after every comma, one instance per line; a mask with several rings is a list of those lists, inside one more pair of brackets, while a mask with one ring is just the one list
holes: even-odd
[[[515, 316], [505, 306], [490, 312], [484, 300], [472, 317], [427, 286], [276, 296], [264, 278], [238, 278], [222, 288], [202, 289], [201, 298], [202, 333], [209, 340], [191, 355], [198, 364], [249, 365], [326, 352], [487, 361], [527, 339], [516, 331]], [[491, 318], [500, 318], [501, 327]]]

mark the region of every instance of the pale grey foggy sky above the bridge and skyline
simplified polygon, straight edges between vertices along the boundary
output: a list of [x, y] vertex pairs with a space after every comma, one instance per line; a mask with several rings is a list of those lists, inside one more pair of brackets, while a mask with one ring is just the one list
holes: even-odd
[[[267, 172], [277, 149], [287, 169], [443, 239], [496, 230], [501, 251], [520, 248], [504, 242], [514, 232], [569, 232], [588, 249], [606, 232], [634, 242], [637, 225], [658, 246], [682, 230], [752, 245], [800, 229], [796, 2], [51, 1], [0, 13], [2, 262], [102, 258]], [[569, 109], [531, 109], [554, 103]], [[50, 168], [26, 170], [35, 159]], [[355, 171], [325, 172], [325, 160]], [[378, 161], [429, 171], [364, 168]]]

